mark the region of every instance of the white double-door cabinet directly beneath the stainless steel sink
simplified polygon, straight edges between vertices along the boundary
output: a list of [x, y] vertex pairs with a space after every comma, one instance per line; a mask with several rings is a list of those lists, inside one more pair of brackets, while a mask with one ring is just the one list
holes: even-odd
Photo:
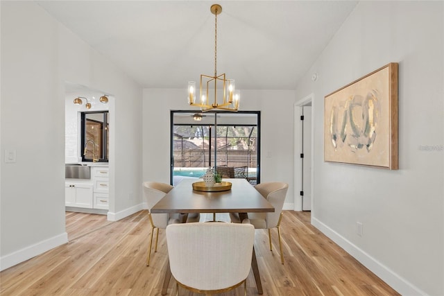
[[65, 206], [92, 208], [92, 184], [65, 182]]

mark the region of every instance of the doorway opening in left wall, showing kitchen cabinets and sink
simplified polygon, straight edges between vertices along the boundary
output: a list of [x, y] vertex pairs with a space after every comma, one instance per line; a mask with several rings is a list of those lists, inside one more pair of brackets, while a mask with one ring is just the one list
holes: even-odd
[[[80, 217], [112, 220], [114, 96], [110, 95], [108, 103], [103, 103], [99, 99], [103, 94], [106, 92], [65, 82], [65, 172], [86, 172], [65, 173], [65, 229], [69, 240], [72, 233], [77, 236], [101, 227], [100, 223], [83, 225], [84, 219]], [[74, 98], [78, 97], [83, 98], [83, 104], [74, 104]]]

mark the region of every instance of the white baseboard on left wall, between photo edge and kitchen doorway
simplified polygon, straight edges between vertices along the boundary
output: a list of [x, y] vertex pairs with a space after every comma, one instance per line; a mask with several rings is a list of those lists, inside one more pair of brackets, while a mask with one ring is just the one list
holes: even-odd
[[11, 254], [2, 256], [0, 257], [0, 271], [6, 270], [6, 268], [10, 268], [11, 266], [14, 266], [18, 263], [22, 263], [23, 261], [31, 259], [67, 242], [68, 234], [67, 232], [63, 232], [58, 236], [53, 236], [52, 238], [48, 238], [39, 243], [35, 243], [34, 245], [24, 247], [22, 250], [18, 250]]

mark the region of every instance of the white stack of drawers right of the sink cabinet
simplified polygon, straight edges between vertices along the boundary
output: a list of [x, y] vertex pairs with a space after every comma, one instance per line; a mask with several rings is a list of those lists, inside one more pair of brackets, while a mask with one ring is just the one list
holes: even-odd
[[110, 168], [108, 166], [92, 167], [94, 180], [94, 209], [109, 209]]

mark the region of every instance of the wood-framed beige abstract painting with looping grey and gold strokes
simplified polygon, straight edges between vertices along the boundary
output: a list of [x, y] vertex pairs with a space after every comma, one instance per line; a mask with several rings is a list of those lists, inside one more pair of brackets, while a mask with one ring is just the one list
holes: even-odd
[[324, 161], [398, 169], [398, 63], [325, 96]]

